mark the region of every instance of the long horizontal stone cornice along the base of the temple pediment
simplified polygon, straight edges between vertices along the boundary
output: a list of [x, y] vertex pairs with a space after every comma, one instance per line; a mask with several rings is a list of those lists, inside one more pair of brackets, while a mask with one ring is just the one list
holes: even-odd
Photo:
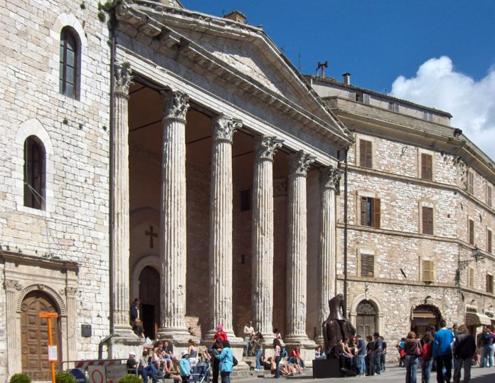
[[[137, 1], [137, 4], [149, 6], [148, 2], [143, 1]], [[157, 9], [170, 10], [166, 6], [158, 7]], [[146, 10], [148, 11], [149, 8]], [[174, 8], [172, 15], [177, 12], [181, 13], [182, 10]], [[271, 107], [284, 116], [299, 122], [307, 130], [318, 133], [326, 140], [334, 142], [338, 147], [351, 145], [352, 137], [344, 124], [329, 110], [321, 98], [309, 88], [307, 83], [302, 83], [305, 97], [310, 94], [312, 102], [321, 108], [319, 110], [323, 117], [308, 112], [304, 107], [293, 103], [257, 80], [228, 66], [219, 58], [186, 38], [186, 36], [174, 31], [169, 25], [165, 26], [164, 23], [157, 21], [159, 18], [170, 17], [171, 14], [166, 14], [165, 12], [159, 15], [156, 14], [156, 19], [154, 19], [139, 7], [133, 6], [133, 4], [122, 4], [122, 6], [117, 7], [116, 16], [121, 23], [119, 26], [120, 31], [129, 34], [133, 38], [144, 38], [146, 40], [144, 43], [149, 44], [155, 51], [159, 51], [166, 56], [174, 53], [175, 59], [190, 70], [205, 75], [211, 80], [218, 81], [224, 86], [230, 85], [233, 91], [244, 93], [250, 98], [260, 100], [267, 107]], [[122, 26], [122, 23], [127, 27]], [[184, 21], [181, 20], [181, 23], [184, 23]], [[292, 73], [292, 77], [294, 78], [294, 73]]]

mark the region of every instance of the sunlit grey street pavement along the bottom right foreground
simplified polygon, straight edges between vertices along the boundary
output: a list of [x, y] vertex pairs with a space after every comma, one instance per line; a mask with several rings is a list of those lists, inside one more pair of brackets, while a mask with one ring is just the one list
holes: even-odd
[[[452, 369], [452, 373], [454, 373], [454, 370]], [[302, 383], [302, 382], [340, 382], [341, 380], [344, 380], [345, 382], [348, 383], [354, 383], [354, 382], [405, 382], [405, 368], [403, 367], [387, 367], [387, 370], [383, 372], [382, 374], [375, 375], [373, 377], [342, 377], [342, 378], [327, 378], [327, 379], [313, 379], [313, 372], [312, 369], [305, 369], [304, 370], [304, 375], [297, 375], [294, 377], [280, 377], [278, 379], [277, 383], [283, 383], [284, 381], [288, 381], [286, 383]], [[417, 375], [417, 383], [421, 383], [421, 371], [419, 370]], [[464, 377], [464, 374], [461, 374], [461, 382], [462, 378]], [[232, 380], [235, 382], [240, 382], [240, 383], [263, 383], [263, 380], [272, 380], [272, 376], [267, 376], [267, 377], [250, 377], [250, 378], [243, 378], [243, 379], [235, 379], [233, 378]], [[430, 377], [430, 383], [436, 383], [437, 382], [437, 374], [436, 372], [432, 372], [431, 377]], [[451, 380], [452, 382], [452, 380]], [[470, 383], [495, 383], [495, 368], [494, 367], [486, 367], [486, 368], [479, 368], [479, 367], [473, 367], [471, 369], [471, 380], [469, 381]], [[265, 382], [266, 383], [266, 382]]]

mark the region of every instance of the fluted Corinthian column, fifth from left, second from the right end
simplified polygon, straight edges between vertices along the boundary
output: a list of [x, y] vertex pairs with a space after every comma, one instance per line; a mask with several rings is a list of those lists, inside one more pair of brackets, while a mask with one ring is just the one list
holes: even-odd
[[307, 345], [306, 175], [314, 157], [302, 150], [289, 156], [287, 194], [287, 345]]

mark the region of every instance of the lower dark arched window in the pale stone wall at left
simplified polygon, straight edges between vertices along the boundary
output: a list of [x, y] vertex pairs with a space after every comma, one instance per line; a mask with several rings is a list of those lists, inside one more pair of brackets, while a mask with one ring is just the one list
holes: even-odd
[[45, 206], [45, 149], [35, 136], [24, 142], [24, 206]]

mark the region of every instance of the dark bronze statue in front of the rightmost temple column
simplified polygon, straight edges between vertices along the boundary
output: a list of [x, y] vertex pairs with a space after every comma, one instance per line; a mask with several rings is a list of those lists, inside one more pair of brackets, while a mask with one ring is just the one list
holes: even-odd
[[332, 359], [338, 354], [336, 344], [344, 338], [351, 339], [356, 335], [356, 329], [351, 322], [344, 317], [344, 295], [337, 294], [329, 300], [330, 314], [329, 318], [323, 322], [323, 339], [325, 343], [326, 357]]

